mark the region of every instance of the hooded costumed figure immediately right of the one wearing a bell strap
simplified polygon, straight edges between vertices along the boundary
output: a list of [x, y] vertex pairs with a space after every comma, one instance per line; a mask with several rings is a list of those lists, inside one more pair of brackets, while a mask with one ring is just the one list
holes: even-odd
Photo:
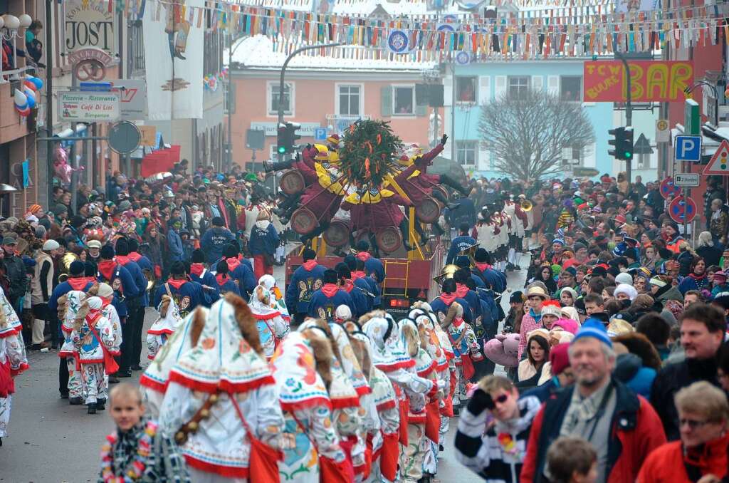
[[339, 481], [347, 474], [346, 455], [332, 421], [332, 346], [319, 329], [292, 332], [271, 360], [284, 411], [281, 481]]

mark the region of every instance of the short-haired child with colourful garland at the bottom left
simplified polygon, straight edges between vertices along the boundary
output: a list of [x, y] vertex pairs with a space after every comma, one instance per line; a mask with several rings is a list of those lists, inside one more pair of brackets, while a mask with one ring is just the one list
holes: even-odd
[[139, 388], [123, 382], [109, 394], [109, 412], [117, 429], [101, 447], [98, 483], [190, 483], [184, 458], [157, 423], [144, 416]]

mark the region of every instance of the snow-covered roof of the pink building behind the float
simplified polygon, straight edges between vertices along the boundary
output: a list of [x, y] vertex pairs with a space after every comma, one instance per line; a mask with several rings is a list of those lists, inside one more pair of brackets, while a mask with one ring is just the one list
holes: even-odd
[[[357, 72], [422, 72], [435, 69], [437, 62], [417, 61], [415, 55], [394, 55], [388, 51], [377, 51], [362, 47], [334, 47], [327, 50], [330, 55], [318, 55], [318, 50], [311, 50], [292, 58], [288, 70], [306, 71], [357, 71]], [[377, 58], [381, 56], [382, 58]], [[223, 60], [228, 61], [227, 50]], [[266, 36], [256, 35], [243, 37], [233, 43], [233, 70], [235, 64], [248, 69], [281, 69], [286, 60], [286, 53], [273, 50], [273, 42]]]

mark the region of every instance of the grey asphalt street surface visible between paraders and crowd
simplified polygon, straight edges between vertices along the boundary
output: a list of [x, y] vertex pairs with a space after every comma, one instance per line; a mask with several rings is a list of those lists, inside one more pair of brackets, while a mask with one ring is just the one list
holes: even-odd
[[[526, 266], [526, 263], [523, 264]], [[511, 290], [524, 284], [526, 272], [508, 274]], [[278, 280], [284, 277], [284, 268], [276, 267]], [[508, 297], [502, 302], [508, 310]], [[154, 309], [147, 309], [145, 331], [156, 317]], [[147, 360], [147, 349], [143, 349]], [[100, 411], [86, 414], [86, 406], [69, 406], [68, 400], [58, 398], [58, 355], [56, 351], [28, 352], [32, 371], [16, 379], [17, 393], [12, 401], [12, 434], [4, 438], [0, 450], [0, 482], [95, 482], [98, 479], [98, 448], [113, 429], [109, 415]], [[142, 363], [146, 366], [147, 363]], [[497, 368], [499, 371], [500, 368]], [[141, 372], [133, 373], [138, 382]], [[476, 474], [456, 461], [453, 438], [458, 420], [451, 420], [445, 452], [441, 453], [438, 479], [442, 482], [480, 482]], [[29, 462], [37, 462], [31, 464]]]

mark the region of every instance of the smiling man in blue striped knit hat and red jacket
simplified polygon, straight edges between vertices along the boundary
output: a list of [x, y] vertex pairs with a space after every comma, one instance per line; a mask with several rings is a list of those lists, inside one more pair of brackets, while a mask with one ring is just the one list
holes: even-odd
[[545, 482], [547, 449], [559, 436], [581, 436], [598, 455], [599, 482], [634, 482], [650, 452], [666, 442], [642, 396], [611, 376], [612, 341], [602, 322], [585, 320], [569, 347], [575, 384], [545, 401], [531, 425], [521, 483]]

